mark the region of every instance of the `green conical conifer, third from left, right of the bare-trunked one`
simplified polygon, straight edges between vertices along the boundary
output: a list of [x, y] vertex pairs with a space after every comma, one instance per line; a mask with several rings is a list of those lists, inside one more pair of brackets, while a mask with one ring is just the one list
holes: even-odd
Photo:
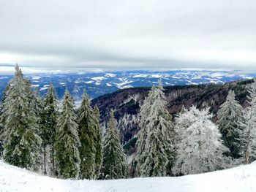
[[61, 115], [57, 120], [55, 161], [61, 178], [78, 178], [80, 171], [80, 156], [78, 147], [78, 123], [75, 115], [75, 105], [69, 91], [65, 91]]

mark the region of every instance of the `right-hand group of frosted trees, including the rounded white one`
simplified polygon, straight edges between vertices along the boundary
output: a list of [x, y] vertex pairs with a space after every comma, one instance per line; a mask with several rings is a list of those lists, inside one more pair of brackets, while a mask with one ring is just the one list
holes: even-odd
[[140, 177], [178, 176], [227, 169], [256, 160], [256, 82], [248, 87], [243, 109], [230, 90], [212, 122], [210, 108], [167, 111], [161, 82], [140, 107], [138, 152]]

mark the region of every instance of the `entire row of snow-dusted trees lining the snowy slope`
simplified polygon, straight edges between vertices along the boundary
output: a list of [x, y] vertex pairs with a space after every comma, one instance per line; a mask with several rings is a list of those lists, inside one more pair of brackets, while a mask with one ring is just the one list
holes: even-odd
[[69, 90], [56, 96], [50, 83], [40, 96], [18, 65], [0, 105], [0, 150], [7, 164], [62, 179], [113, 180], [165, 177], [227, 169], [256, 160], [256, 82], [246, 107], [230, 90], [217, 120], [210, 107], [167, 110], [161, 79], [140, 104], [135, 158], [129, 162], [110, 112], [103, 131], [99, 108], [86, 91], [78, 108]]

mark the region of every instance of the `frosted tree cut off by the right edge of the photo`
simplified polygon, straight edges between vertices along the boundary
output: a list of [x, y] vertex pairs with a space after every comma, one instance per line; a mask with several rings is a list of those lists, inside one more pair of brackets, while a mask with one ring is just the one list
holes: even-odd
[[249, 107], [244, 110], [244, 121], [240, 122], [239, 139], [241, 156], [246, 164], [256, 159], [256, 82], [252, 82], [248, 90]]

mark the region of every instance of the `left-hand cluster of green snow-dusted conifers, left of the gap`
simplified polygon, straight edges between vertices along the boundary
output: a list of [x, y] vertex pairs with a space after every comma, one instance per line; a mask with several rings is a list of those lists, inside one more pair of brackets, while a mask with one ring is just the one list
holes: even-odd
[[16, 65], [0, 112], [1, 155], [8, 164], [64, 179], [127, 177], [127, 157], [113, 112], [103, 140], [99, 109], [92, 109], [86, 93], [76, 112], [66, 89], [59, 109], [53, 84], [40, 97]]

